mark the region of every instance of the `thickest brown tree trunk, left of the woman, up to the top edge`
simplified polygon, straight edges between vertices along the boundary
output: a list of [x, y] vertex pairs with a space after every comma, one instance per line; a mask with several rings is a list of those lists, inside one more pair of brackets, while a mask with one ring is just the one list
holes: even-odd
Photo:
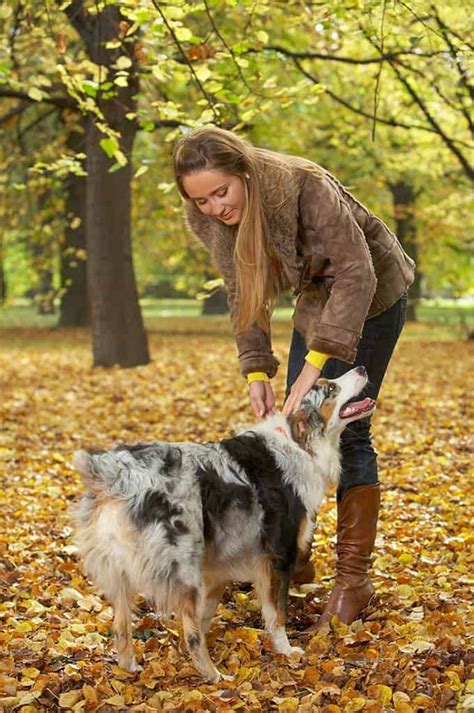
[[[87, 281], [92, 316], [94, 366], [123, 367], [147, 364], [150, 360], [132, 262], [130, 235], [131, 159], [136, 123], [126, 118], [136, 111], [138, 92], [133, 39], [124, 40], [123, 18], [116, 5], [105, 6], [84, 25], [89, 57], [109, 70], [113, 81], [114, 65], [127, 52], [132, 66], [128, 86], [115, 86], [116, 96], [100, 98], [99, 108], [108, 126], [120, 136], [120, 150], [126, 166], [110, 172], [110, 160], [99, 142], [106, 138], [89, 118], [87, 128]], [[108, 48], [120, 41], [120, 47]]]

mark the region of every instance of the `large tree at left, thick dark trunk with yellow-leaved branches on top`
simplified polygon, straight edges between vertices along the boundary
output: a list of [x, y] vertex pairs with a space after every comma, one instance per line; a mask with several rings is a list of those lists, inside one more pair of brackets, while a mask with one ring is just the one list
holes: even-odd
[[[54, 75], [56, 67], [51, 70], [47, 66], [45, 74], [29, 77], [33, 86], [24, 91], [23, 68], [16, 60], [15, 46], [12, 50], [12, 45], [18, 47], [20, 40], [16, 36], [11, 39], [10, 35], [12, 63], [8, 68], [7, 86], [0, 93], [20, 102], [34, 100], [77, 109], [87, 116], [85, 215], [74, 216], [72, 221], [84, 219], [85, 223], [94, 364], [134, 366], [149, 360], [130, 240], [130, 161], [136, 123], [126, 115], [136, 106], [134, 95], [138, 80], [133, 71], [127, 73], [126, 79], [120, 74], [119, 60], [133, 70], [135, 36], [130, 33], [126, 37], [129, 25], [116, 4], [101, 7], [98, 12], [86, 9], [86, 4], [79, 1], [58, 3], [59, 7], [83, 42], [82, 52], [78, 53], [74, 47], [76, 63], [69, 65], [66, 57], [60, 17], [57, 13], [53, 16], [53, 10], [45, 5], [33, 20], [46, 26], [43, 35], [38, 32], [41, 40], [60, 46], [63, 61], [57, 68], [59, 77], [54, 77], [56, 83], [48, 76], [48, 73]], [[36, 29], [30, 11], [22, 3], [17, 3], [12, 16], [19, 35], [27, 32], [30, 23]], [[29, 41], [30, 37], [24, 38], [24, 44], [28, 45]], [[54, 49], [57, 52], [57, 47]], [[59, 97], [56, 96], [58, 79]], [[21, 109], [18, 106], [18, 113]], [[70, 195], [70, 201], [74, 200], [77, 206], [76, 199], [77, 195]]]

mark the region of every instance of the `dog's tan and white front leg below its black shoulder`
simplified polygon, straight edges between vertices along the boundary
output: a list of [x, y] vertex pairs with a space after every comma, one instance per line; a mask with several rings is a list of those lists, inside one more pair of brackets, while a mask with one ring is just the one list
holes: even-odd
[[278, 572], [271, 560], [264, 557], [257, 564], [255, 589], [262, 603], [265, 628], [270, 635], [277, 654], [288, 656], [303, 653], [298, 646], [291, 646], [285, 629], [289, 573]]

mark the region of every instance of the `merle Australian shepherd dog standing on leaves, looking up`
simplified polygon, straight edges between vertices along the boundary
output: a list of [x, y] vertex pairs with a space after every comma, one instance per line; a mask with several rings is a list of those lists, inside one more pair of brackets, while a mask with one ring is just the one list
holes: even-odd
[[338, 481], [339, 436], [374, 409], [369, 398], [355, 401], [366, 383], [363, 367], [320, 379], [288, 419], [277, 413], [218, 443], [75, 453], [88, 491], [74, 511], [76, 543], [113, 604], [122, 668], [138, 668], [131, 612], [140, 592], [158, 612], [181, 616], [199, 671], [225, 678], [205, 634], [230, 581], [254, 584], [275, 652], [301, 651], [285, 631], [288, 584], [326, 486]]

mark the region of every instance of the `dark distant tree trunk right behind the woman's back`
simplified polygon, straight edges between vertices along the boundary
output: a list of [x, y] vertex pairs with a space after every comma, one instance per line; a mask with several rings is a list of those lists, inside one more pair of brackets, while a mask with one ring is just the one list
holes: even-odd
[[[415, 203], [416, 193], [414, 187], [405, 181], [390, 184], [393, 199], [393, 212], [395, 216], [398, 239], [403, 249], [415, 262], [418, 262], [418, 248], [416, 244], [416, 219]], [[421, 296], [421, 273], [417, 269], [415, 281], [408, 293], [407, 319], [416, 321], [416, 307]]]

